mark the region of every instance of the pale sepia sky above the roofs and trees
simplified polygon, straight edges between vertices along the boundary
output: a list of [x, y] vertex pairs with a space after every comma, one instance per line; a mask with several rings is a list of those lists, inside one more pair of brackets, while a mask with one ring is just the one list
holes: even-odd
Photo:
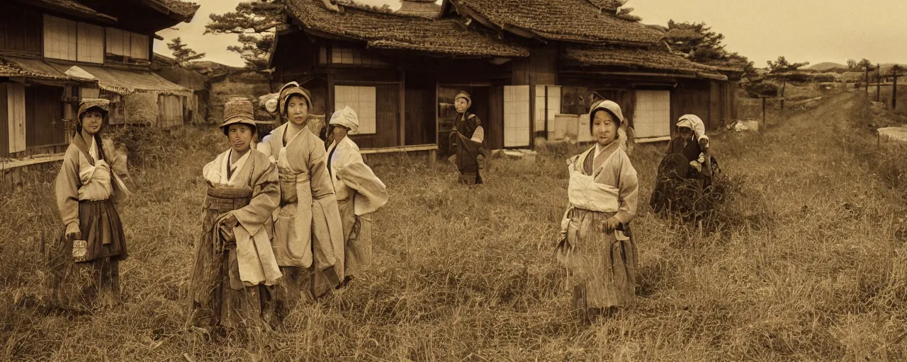
[[[165, 41], [155, 41], [154, 51], [171, 55], [165, 43], [180, 36], [190, 48], [206, 52], [206, 60], [243, 65], [226, 49], [235, 35], [201, 35], [209, 14], [230, 11], [241, 0], [193, 1], [201, 7], [192, 23], [159, 32]], [[398, 0], [358, 1], [400, 6]], [[757, 68], [779, 55], [811, 64], [861, 58], [907, 63], [907, 0], [629, 0], [626, 6], [644, 24], [706, 22], [725, 35], [728, 50], [745, 55]]]

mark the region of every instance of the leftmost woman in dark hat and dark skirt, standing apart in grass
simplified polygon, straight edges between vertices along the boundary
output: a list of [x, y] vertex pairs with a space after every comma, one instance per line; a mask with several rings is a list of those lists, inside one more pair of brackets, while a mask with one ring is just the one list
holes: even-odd
[[51, 258], [52, 300], [62, 307], [120, 300], [120, 262], [127, 257], [126, 237], [115, 205], [124, 205], [129, 190], [125, 154], [101, 138], [108, 100], [83, 99], [73, 140], [56, 177], [56, 201], [66, 230]]

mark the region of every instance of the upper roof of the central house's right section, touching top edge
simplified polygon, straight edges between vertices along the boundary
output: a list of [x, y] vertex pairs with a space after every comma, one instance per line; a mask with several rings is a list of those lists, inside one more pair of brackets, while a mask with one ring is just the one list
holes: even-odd
[[[579, 43], [658, 43], [664, 34], [603, 13], [610, 1], [448, 0], [460, 14], [479, 16], [499, 29], [522, 30], [545, 39]], [[597, 4], [593, 4], [597, 3]], [[482, 20], [482, 19], [476, 19]]]

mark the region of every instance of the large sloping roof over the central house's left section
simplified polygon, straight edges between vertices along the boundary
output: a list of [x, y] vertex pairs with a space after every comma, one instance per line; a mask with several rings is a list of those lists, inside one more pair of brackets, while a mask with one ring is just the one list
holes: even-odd
[[352, 7], [328, 10], [320, 0], [287, 0], [288, 12], [306, 28], [365, 41], [368, 46], [434, 54], [529, 56], [529, 50], [466, 28], [453, 19], [380, 14]]

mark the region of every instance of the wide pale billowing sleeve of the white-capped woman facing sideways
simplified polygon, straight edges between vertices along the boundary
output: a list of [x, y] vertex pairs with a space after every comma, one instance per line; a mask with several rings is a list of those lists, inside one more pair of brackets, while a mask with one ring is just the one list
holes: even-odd
[[[336, 176], [346, 186], [356, 190], [356, 214], [371, 214], [387, 203], [387, 188], [381, 179], [375, 176], [358, 153], [350, 152], [342, 167], [336, 167]], [[361, 196], [361, 197], [360, 197]]]

